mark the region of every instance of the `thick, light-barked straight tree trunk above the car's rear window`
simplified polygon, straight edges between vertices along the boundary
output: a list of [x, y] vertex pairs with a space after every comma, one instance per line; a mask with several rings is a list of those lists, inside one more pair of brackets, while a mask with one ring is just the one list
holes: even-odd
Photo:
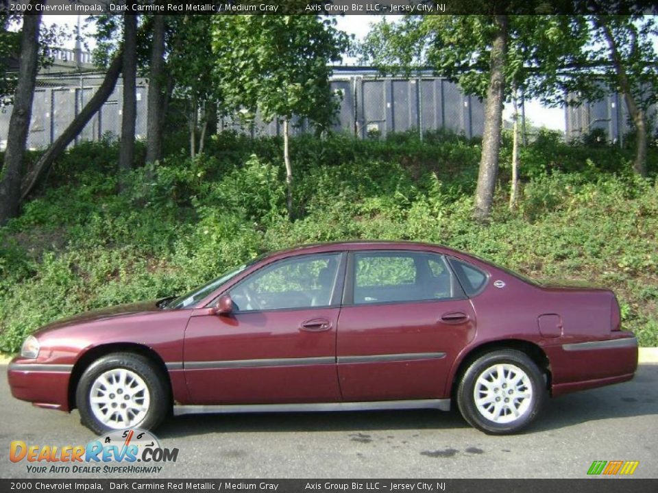
[[505, 89], [505, 59], [507, 57], [507, 23], [505, 15], [495, 16], [496, 36], [491, 48], [491, 68], [487, 104], [485, 105], [485, 129], [482, 138], [482, 156], [475, 192], [474, 217], [485, 221], [491, 213], [493, 191], [498, 175], [498, 151], [500, 150], [500, 127], [502, 125], [502, 103]]

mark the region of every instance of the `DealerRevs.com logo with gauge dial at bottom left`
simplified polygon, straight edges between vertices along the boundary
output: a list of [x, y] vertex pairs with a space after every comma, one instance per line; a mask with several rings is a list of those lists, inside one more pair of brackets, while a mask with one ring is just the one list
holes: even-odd
[[10, 444], [9, 459], [27, 462], [27, 472], [51, 474], [100, 472], [159, 473], [159, 464], [176, 462], [178, 448], [164, 448], [153, 433], [141, 429], [117, 430], [86, 445], [33, 445], [23, 440]]

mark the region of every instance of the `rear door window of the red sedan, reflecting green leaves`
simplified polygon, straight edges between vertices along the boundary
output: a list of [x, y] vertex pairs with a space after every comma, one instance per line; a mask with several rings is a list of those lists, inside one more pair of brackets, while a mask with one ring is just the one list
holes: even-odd
[[415, 252], [354, 254], [354, 303], [393, 303], [451, 299], [452, 272], [443, 255]]

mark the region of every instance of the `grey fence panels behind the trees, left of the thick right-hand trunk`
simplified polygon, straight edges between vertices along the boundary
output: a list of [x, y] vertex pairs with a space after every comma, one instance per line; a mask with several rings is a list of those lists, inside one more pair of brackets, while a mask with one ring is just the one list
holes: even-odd
[[[45, 149], [62, 134], [103, 81], [103, 73], [40, 75], [34, 94], [29, 149]], [[439, 77], [411, 79], [376, 77], [374, 73], [341, 73], [331, 80], [332, 90], [340, 97], [334, 131], [359, 138], [386, 136], [391, 132], [451, 129], [467, 137], [482, 135], [484, 110], [481, 101], [467, 96], [455, 84]], [[137, 84], [137, 121], [135, 136], [146, 137], [147, 93], [145, 79]], [[121, 135], [123, 86], [121, 79], [101, 110], [93, 116], [72, 145], [82, 140], [114, 140]], [[12, 107], [0, 112], [0, 149], [6, 147]], [[219, 129], [232, 129], [252, 136], [279, 136], [282, 123], [263, 122], [258, 116], [253, 125], [240, 118], [220, 118]], [[293, 118], [292, 134], [313, 131], [302, 118]]]

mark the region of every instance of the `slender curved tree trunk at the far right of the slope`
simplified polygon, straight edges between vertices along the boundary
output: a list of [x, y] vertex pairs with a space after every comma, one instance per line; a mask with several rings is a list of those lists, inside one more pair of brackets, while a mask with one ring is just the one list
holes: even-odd
[[[624, 94], [626, 109], [629, 110], [629, 115], [631, 115], [633, 125], [635, 125], [635, 161], [633, 162], [633, 171], [642, 177], [646, 177], [646, 114], [644, 113], [644, 110], [639, 107], [637, 101], [635, 101], [635, 98], [633, 97], [631, 82], [629, 81], [629, 76], [624, 68], [622, 57], [617, 49], [617, 41], [607, 22], [606, 16], [596, 16], [596, 24], [602, 29], [603, 36], [605, 37], [610, 49], [612, 64], [615, 68], [615, 73], [617, 74], [622, 94]], [[632, 47], [631, 50], [634, 51], [635, 47]]]

